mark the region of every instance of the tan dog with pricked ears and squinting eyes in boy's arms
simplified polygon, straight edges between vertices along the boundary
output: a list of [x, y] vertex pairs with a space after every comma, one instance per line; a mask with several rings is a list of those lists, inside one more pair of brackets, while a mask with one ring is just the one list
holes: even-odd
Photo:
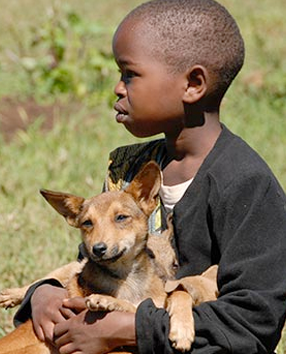
[[[158, 259], [155, 257], [154, 261], [146, 252], [148, 218], [156, 207], [160, 183], [159, 168], [150, 162], [125, 191], [107, 192], [86, 200], [42, 191], [70, 225], [80, 228], [88, 255], [84, 262], [65, 266], [50, 276], [58, 278], [63, 285], [65, 279], [68, 280], [69, 296], [86, 297], [87, 307], [92, 311], [135, 312], [141, 301], [152, 298], [156, 306], [167, 307], [170, 311], [170, 339], [174, 347], [189, 350], [194, 339], [194, 300], [188, 292], [181, 290], [167, 296], [162, 275], [156, 273]], [[65, 279], [62, 278], [63, 269]], [[187, 279], [191, 282], [192, 278]], [[205, 275], [202, 278], [207, 279]], [[204, 296], [205, 289], [201, 289], [196, 291], [202, 292], [202, 301], [215, 299], [215, 286], [211, 296]], [[191, 294], [193, 291], [191, 289]], [[7, 299], [5, 301], [6, 306], [12, 305]], [[183, 312], [181, 306], [184, 306]], [[42, 354], [53, 353], [53, 349], [39, 342], [28, 321], [0, 340], [0, 354], [4, 353]]]

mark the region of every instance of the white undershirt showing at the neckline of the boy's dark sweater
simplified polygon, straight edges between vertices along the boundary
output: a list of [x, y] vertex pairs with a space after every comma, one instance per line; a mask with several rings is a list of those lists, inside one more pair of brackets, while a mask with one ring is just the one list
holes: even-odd
[[194, 178], [191, 178], [188, 181], [176, 184], [174, 186], [165, 186], [163, 183], [161, 184], [159, 195], [168, 213], [173, 210], [175, 204], [177, 204], [177, 202], [185, 194], [193, 179]]

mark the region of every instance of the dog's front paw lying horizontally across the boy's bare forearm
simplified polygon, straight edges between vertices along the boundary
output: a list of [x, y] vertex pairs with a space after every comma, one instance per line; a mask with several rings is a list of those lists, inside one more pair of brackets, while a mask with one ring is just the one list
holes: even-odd
[[90, 311], [136, 312], [136, 306], [131, 302], [116, 299], [109, 295], [90, 295], [86, 298], [86, 306]]

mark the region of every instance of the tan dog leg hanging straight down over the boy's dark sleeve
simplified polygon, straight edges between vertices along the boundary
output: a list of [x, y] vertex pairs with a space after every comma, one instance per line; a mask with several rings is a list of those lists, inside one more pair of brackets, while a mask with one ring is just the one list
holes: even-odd
[[179, 351], [188, 351], [195, 338], [193, 299], [186, 291], [174, 291], [166, 299], [170, 316], [169, 339]]

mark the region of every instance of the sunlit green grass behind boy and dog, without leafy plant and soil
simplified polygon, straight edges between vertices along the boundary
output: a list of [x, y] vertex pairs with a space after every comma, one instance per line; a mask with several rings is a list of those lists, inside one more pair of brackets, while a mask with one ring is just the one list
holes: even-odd
[[[140, 2], [68, 3], [86, 21], [104, 29], [102, 36], [88, 45], [110, 51], [116, 24]], [[259, 5], [246, 0], [221, 3], [238, 21], [247, 51], [244, 69], [223, 102], [222, 121], [265, 158], [286, 189], [284, 0], [261, 0]], [[19, 6], [17, 0], [0, 0], [0, 98], [27, 98], [26, 76], [11, 60], [11, 52], [19, 49], [19, 38], [23, 45], [28, 43], [31, 24], [41, 26], [46, 4], [44, 0], [23, 0]], [[116, 75], [114, 69], [114, 83]], [[112, 85], [109, 89], [112, 91]], [[46, 99], [53, 101], [50, 96]], [[66, 96], [63, 100], [70, 107]], [[98, 193], [108, 152], [135, 141], [116, 125], [114, 113], [104, 99], [96, 106], [79, 100], [75, 107], [57, 116], [49, 131], [40, 129], [39, 117], [9, 144], [0, 137], [0, 289], [30, 282], [77, 255], [78, 232], [51, 210], [38, 193], [39, 188], [83, 196]], [[0, 336], [12, 328], [13, 313], [0, 310]], [[283, 346], [281, 342], [279, 354], [284, 353]]]

